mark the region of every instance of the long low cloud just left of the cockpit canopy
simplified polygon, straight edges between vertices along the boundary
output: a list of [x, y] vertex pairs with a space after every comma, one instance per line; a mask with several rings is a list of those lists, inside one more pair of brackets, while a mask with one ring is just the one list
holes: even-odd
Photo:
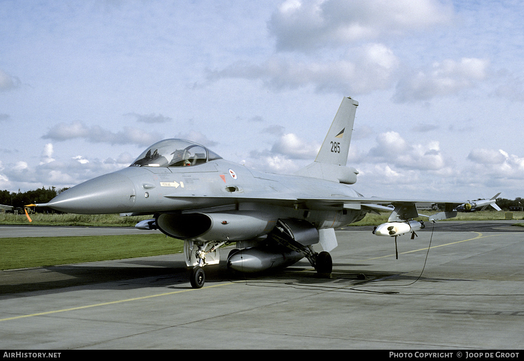
[[151, 145], [160, 140], [158, 134], [141, 129], [125, 127], [123, 131], [113, 133], [99, 125], [87, 126], [82, 122], [59, 123], [51, 128], [42, 139], [67, 141], [83, 139], [90, 143]]

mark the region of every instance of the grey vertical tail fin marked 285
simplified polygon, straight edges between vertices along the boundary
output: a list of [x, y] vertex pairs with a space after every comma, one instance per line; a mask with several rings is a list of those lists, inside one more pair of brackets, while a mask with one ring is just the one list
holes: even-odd
[[315, 162], [346, 165], [357, 107], [358, 102], [351, 98], [342, 100]]

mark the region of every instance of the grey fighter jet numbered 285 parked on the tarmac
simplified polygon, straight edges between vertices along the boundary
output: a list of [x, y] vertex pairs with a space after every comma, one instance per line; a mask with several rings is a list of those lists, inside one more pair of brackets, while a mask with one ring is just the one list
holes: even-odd
[[[416, 203], [444, 203], [430, 221], [456, 216], [464, 201], [366, 198], [350, 185], [358, 171], [347, 167], [358, 102], [344, 98], [316, 159], [293, 175], [269, 174], [224, 160], [207, 147], [167, 139], [148, 147], [128, 167], [53, 198], [56, 210], [77, 214], [151, 215], [139, 229], [159, 229], [184, 241], [190, 283], [201, 288], [204, 267], [219, 263], [220, 247], [236, 243], [227, 267], [262, 272], [307, 258], [322, 276], [331, 274], [335, 229], [367, 213], [389, 211], [378, 236], [397, 237], [423, 228]], [[393, 205], [395, 208], [386, 207]], [[322, 251], [313, 246], [320, 244]]]

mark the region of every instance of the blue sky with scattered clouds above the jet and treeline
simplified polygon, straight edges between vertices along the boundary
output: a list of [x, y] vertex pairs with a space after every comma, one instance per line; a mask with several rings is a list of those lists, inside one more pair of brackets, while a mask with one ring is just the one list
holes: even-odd
[[181, 137], [310, 163], [344, 96], [366, 196], [524, 197], [519, 1], [0, 0], [0, 189], [69, 187]]

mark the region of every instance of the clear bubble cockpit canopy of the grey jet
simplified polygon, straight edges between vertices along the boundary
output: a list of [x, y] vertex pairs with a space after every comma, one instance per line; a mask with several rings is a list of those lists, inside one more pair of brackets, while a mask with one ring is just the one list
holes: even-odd
[[144, 167], [194, 166], [222, 157], [204, 147], [182, 139], [166, 139], [151, 145], [131, 164]]

